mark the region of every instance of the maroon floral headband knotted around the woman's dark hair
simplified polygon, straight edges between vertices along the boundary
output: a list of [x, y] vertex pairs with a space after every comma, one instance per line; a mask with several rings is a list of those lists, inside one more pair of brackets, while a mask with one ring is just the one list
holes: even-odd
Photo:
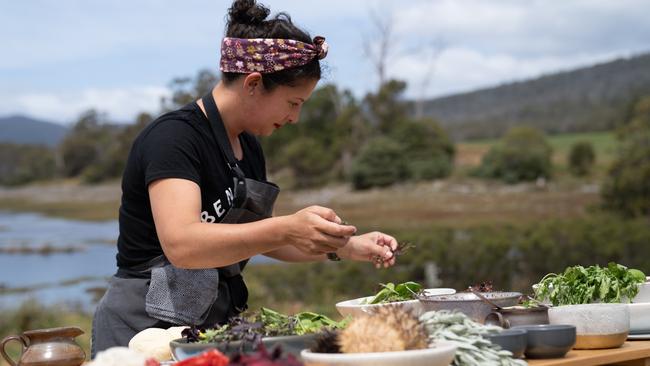
[[314, 44], [293, 39], [230, 38], [221, 42], [221, 71], [239, 74], [273, 72], [302, 66], [315, 58], [327, 56], [325, 38], [314, 38]]

